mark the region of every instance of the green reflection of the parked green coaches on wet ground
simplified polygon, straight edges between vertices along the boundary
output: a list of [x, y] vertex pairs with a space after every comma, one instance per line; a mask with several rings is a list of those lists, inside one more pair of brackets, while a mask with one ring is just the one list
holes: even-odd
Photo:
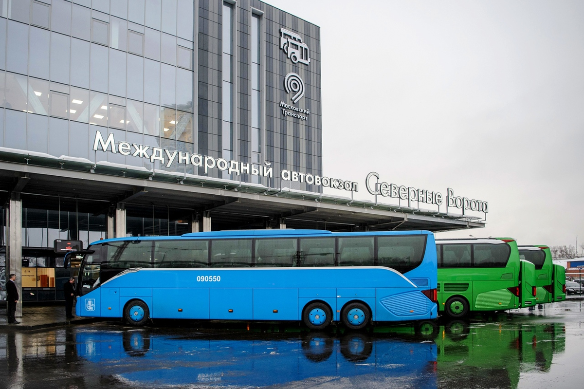
[[564, 352], [565, 327], [451, 321], [440, 326], [435, 342], [439, 386], [516, 388], [520, 373], [548, 371], [554, 354]]

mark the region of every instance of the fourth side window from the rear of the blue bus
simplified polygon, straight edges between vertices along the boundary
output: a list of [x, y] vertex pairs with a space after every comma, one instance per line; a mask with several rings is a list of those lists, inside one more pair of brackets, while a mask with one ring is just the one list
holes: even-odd
[[256, 268], [296, 266], [296, 238], [256, 239]]

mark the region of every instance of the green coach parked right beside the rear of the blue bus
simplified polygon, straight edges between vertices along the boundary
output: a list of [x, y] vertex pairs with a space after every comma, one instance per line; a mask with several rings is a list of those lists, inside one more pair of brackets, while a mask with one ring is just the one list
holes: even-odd
[[[533, 288], [527, 283], [522, 287], [515, 239], [436, 239], [436, 253], [439, 312], [460, 318], [472, 311], [504, 311], [534, 304]], [[524, 277], [529, 277], [527, 273], [533, 275], [523, 272]]]

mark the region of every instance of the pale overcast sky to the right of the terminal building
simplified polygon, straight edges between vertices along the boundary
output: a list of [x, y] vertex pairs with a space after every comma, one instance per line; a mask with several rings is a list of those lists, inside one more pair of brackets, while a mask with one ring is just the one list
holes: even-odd
[[489, 203], [438, 238], [584, 243], [584, 1], [266, 2], [321, 27], [325, 176]]

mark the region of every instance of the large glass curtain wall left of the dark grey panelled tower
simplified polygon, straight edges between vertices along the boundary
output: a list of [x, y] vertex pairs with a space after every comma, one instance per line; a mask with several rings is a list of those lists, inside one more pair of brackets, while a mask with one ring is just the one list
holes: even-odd
[[183, 172], [92, 148], [193, 152], [194, 2], [50, 3], [0, 0], [0, 147]]

